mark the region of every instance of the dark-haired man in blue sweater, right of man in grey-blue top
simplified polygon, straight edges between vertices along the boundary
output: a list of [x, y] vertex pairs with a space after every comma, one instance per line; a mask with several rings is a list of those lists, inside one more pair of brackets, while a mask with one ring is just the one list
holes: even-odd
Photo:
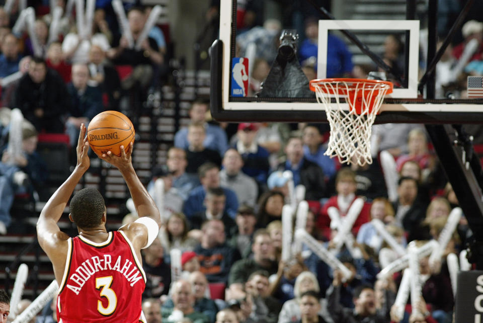
[[[205, 195], [208, 189], [220, 187], [219, 168], [213, 163], [205, 163], [198, 169], [201, 185], [191, 190], [188, 199], [185, 201], [183, 212], [190, 219], [194, 214], [206, 210], [204, 205]], [[221, 187], [225, 193], [225, 212], [231, 218], [236, 215], [238, 210], [238, 199], [235, 192], [225, 187]]]

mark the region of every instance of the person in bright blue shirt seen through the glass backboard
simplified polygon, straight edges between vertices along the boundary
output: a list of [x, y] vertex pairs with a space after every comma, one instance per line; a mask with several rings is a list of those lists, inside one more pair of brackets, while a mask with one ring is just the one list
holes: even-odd
[[[298, 59], [303, 66], [310, 57], [317, 58], [318, 51], [318, 21], [307, 18], [305, 21], [305, 36], [307, 37], [298, 50]], [[315, 66], [317, 66], [315, 62]], [[329, 34], [327, 40], [327, 77], [348, 77], [352, 73], [352, 54], [347, 45], [339, 37]]]

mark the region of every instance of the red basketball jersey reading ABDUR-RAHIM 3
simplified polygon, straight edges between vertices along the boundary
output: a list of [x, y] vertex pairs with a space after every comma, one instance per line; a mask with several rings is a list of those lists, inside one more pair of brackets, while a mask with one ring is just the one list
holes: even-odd
[[76, 236], [68, 240], [59, 287], [59, 322], [144, 322], [142, 264], [122, 231], [101, 244]]

